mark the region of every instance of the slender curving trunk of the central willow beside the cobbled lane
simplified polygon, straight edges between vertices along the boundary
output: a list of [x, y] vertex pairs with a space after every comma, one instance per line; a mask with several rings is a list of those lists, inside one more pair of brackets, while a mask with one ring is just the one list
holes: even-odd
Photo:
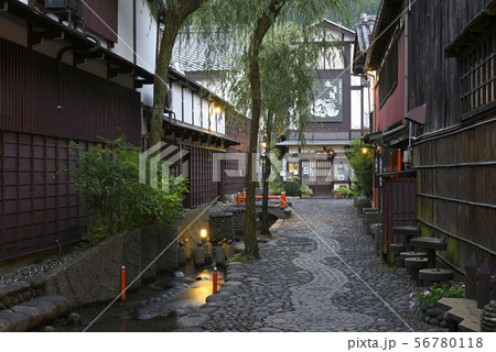
[[272, 0], [268, 11], [257, 21], [254, 35], [250, 41], [248, 53], [248, 77], [251, 90], [251, 123], [250, 123], [250, 145], [248, 147], [247, 185], [246, 185], [246, 210], [242, 239], [245, 241], [245, 255], [259, 257], [258, 243], [255, 233], [255, 180], [254, 180], [254, 156], [258, 147], [258, 129], [260, 128], [261, 113], [261, 90], [260, 90], [260, 65], [258, 62], [260, 46], [267, 31], [280, 13], [285, 0]]

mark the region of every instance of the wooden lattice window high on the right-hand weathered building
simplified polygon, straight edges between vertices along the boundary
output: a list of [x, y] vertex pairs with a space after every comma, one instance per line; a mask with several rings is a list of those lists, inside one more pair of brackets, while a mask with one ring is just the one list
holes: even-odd
[[460, 99], [462, 120], [488, 112], [496, 108], [495, 26], [467, 48], [460, 58]]

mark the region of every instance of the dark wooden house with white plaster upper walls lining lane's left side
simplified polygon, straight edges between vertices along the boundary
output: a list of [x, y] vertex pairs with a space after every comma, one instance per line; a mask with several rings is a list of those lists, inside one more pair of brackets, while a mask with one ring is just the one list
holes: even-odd
[[[158, 33], [147, 1], [0, 1], [0, 262], [80, 240], [78, 196], [55, 175], [74, 167], [71, 141], [126, 134], [148, 147]], [[166, 140], [190, 151], [186, 206], [241, 190], [242, 178], [220, 187], [204, 170], [240, 144], [212, 109], [222, 99], [173, 69], [169, 85]]]

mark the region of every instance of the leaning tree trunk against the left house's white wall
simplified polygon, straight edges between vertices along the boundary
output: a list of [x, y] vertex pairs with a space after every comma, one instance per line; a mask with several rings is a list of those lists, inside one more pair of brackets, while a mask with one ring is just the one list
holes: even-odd
[[153, 110], [150, 119], [150, 135], [148, 146], [153, 146], [163, 136], [163, 111], [165, 108], [165, 94], [169, 64], [172, 57], [175, 38], [186, 18], [200, 9], [208, 0], [180, 0], [174, 7], [165, 10], [165, 28], [160, 42], [159, 56], [155, 63], [155, 77], [153, 81]]

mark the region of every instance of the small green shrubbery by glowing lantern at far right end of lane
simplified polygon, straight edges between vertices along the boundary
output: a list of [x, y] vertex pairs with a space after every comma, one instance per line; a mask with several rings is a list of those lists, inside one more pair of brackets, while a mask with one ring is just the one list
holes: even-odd
[[[365, 148], [365, 153], [364, 153]], [[354, 140], [351, 150], [346, 152], [349, 164], [358, 178], [358, 187], [362, 189], [365, 182], [365, 195], [369, 198], [373, 194], [373, 166], [374, 152], [370, 145], [362, 145], [360, 140]]]

